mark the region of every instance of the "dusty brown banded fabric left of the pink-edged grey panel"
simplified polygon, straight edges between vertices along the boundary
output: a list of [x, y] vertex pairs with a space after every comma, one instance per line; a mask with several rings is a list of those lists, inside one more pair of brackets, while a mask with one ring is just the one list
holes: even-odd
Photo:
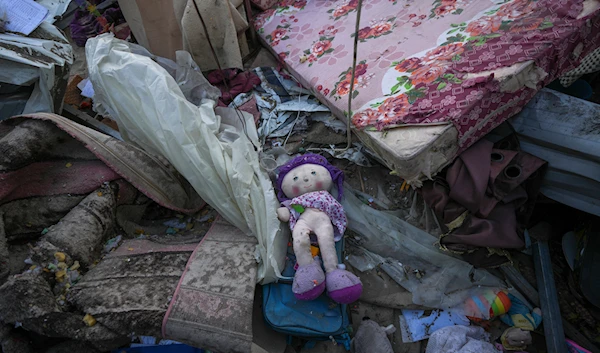
[[86, 273], [67, 299], [112, 332], [160, 337], [169, 301], [199, 238], [165, 240], [125, 241]]

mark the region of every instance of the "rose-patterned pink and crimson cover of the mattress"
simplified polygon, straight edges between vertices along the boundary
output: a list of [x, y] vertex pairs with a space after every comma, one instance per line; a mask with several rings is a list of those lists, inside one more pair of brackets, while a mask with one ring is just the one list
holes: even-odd
[[[339, 117], [348, 115], [357, 5], [281, 0], [255, 19]], [[352, 123], [364, 131], [452, 123], [457, 152], [465, 149], [600, 46], [599, 12], [597, 0], [364, 0]], [[521, 64], [535, 68], [533, 82], [503, 88], [496, 72]]]

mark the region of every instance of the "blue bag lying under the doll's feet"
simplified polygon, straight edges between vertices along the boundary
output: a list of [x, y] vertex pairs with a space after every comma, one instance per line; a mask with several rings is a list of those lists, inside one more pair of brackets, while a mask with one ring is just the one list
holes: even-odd
[[[343, 239], [335, 244], [338, 260], [342, 258]], [[312, 348], [316, 341], [333, 341], [350, 350], [350, 320], [347, 305], [332, 301], [326, 293], [315, 300], [297, 300], [292, 292], [296, 257], [288, 247], [283, 275], [286, 279], [263, 286], [263, 314], [275, 331], [306, 341], [304, 348]]]

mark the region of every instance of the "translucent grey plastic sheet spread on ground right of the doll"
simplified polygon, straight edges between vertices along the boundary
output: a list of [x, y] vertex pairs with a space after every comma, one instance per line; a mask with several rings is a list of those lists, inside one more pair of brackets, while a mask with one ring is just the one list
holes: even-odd
[[430, 308], [456, 309], [477, 291], [505, 287], [489, 272], [441, 253], [431, 234], [365, 205], [348, 185], [344, 189], [348, 229], [360, 236], [348, 247], [348, 262], [357, 270], [379, 266], [412, 293], [415, 304]]

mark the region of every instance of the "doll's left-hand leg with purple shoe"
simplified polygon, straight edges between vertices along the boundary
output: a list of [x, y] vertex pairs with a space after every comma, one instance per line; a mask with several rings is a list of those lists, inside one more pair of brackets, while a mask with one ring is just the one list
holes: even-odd
[[315, 299], [325, 291], [325, 274], [321, 269], [321, 261], [313, 259], [310, 253], [310, 227], [305, 220], [298, 220], [292, 238], [298, 264], [292, 292], [299, 300]]

